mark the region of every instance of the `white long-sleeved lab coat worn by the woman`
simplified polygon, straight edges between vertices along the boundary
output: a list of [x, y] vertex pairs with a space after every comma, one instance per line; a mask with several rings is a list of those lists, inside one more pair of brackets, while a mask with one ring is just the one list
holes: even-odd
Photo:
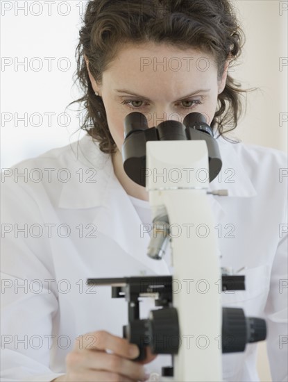
[[[222, 293], [223, 306], [265, 317], [273, 381], [287, 381], [287, 157], [218, 142], [223, 169], [210, 188], [229, 192], [210, 195], [221, 265], [246, 267], [239, 272], [246, 290]], [[51, 381], [65, 373], [78, 335], [103, 329], [122, 336], [128, 323], [126, 301], [111, 299], [110, 287], [88, 288], [87, 278], [170, 274], [171, 267], [146, 256], [149, 233], [140, 235], [142, 222], [110, 157], [87, 135], [6, 170], [1, 184], [2, 381]], [[145, 299], [142, 318], [151, 308]], [[223, 355], [223, 379], [259, 381], [256, 351], [248, 344]], [[171, 357], [145, 366], [151, 380], [160, 365]]]

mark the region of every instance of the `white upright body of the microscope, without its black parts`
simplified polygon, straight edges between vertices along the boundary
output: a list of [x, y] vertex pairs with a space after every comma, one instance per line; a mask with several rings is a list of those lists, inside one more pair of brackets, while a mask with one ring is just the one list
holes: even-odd
[[166, 210], [170, 226], [180, 227], [180, 235], [171, 240], [180, 348], [174, 356], [173, 379], [162, 377], [161, 381], [222, 381], [221, 267], [207, 197], [206, 142], [146, 142], [146, 175], [153, 217]]

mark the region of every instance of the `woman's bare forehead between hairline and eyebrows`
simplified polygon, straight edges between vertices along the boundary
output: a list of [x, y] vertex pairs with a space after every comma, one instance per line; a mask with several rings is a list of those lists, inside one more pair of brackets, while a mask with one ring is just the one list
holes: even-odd
[[168, 44], [126, 44], [103, 72], [105, 79], [145, 83], [155, 81], [210, 81], [217, 75], [217, 65], [209, 54], [199, 49], [179, 49]]

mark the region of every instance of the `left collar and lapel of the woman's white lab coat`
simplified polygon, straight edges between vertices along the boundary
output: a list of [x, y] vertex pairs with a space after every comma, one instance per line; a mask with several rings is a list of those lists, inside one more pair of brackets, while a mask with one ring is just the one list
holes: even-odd
[[[117, 242], [129, 256], [150, 269], [151, 274], [170, 274], [163, 259], [153, 260], [146, 255], [150, 242], [149, 233], [140, 232], [142, 222], [115, 176], [110, 156], [101, 152], [98, 144], [87, 135], [76, 147], [74, 145], [72, 151], [67, 167], [69, 165], [71, 174], [77, 176], [71, 176], [69, 182], [62, 184], [58, 207], [94, 208], [93, 224], [96, 225], [97, 232]], [[80, 165], [81, 174], [87, 174], [87, 170], [96, 170], [96, 182], [87, 182], [87, 178], [79, 181]]]

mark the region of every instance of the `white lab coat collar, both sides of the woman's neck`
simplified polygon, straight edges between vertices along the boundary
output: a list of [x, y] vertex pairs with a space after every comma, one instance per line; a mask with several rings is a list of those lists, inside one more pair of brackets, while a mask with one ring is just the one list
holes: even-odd
[[[217, 139], [217, 142], [223, 166], [221, 174], [214, 178], [209, 189], [211, 191], [228, 190], [228, 197], [255, 197], [257, 192], [248, 176], [248, 169], [245, 169], [241, 163], [235, 144], [221, 137]], [[85, 135], [80, 141], [74, 142], [71, 149], [73, 154], [68, 157], [67, 167], [72, 167], [73, 176], [69, 182], [62, 183], [58, 207], [82, 209], [106, 206], [109, 208], [110, 197], [113, 195], [119, 197], [120, 194], [121, 198], [127, 199], [130, 204], [128, 195], [114, 174], [110, 155], [100, 151], [97, 142], [94, 142], [89, 135]], [[217, 197], [219, 198], [221, 197]]]

